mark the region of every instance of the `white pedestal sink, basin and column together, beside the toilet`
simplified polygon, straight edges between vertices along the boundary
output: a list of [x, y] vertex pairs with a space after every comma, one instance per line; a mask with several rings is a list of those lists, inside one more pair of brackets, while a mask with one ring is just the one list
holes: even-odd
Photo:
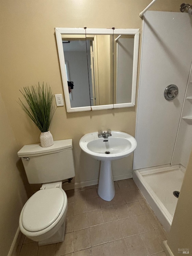
[[111, 161], [130, 155], [137, 146], [133, 136], [121, 131], [111, 131], [112, 136], [98, 137], [98, 132], [85, 134], [79, 141], [81, 149], [101, 161], [98, 195], [111, 201], [115, 196], [115, 187]]

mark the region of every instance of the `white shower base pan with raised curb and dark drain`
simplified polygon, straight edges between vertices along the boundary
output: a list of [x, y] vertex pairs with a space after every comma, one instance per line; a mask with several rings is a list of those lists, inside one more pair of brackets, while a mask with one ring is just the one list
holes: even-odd
[[150, 167], [133, 171], [133, 180], [146, 198], [167, 233], [170, 230], [184, 178], [182, 165]]

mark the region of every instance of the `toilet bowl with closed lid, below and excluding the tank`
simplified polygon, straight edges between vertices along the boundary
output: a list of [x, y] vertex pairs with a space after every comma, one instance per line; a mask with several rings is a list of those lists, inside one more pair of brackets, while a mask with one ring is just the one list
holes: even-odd
[[[51, 188], [45, 188], [47, 185]], [[64, 240], [66, 217], [67, 195], [62, 182], [44, 184], [24, 205], [19, 227], [39, 245], [58, 243]]]

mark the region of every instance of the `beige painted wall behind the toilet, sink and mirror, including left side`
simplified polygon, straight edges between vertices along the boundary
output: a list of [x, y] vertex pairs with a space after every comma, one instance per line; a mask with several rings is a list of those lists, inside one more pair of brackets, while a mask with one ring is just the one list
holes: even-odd
[[[26, 200], [16, 167], [16, 152], [38, 142], [39, 130], [23, 113], [17, 99], [23, 86], [48, 82], [53, 93], [63, 94], [55, 39], [55, 27], [140, 28], [139, 17], [149, 0], [1, 0], [1, 229], [3, 254], [10, 248], [18, 227], [20, 209]], [[179, 11], [178, 0], [158, 0], [151, 10]], [[140, 37], [141, 45], [141, 37]], [[4, 102], [4, 104], [3, 104]], [[9, 123], [9, 121], [10, 123]], [[75, 181], [98, 178], [99, 162], [79, 148], [82, 135], [111, 128], [134, 136], [136, 108], [66, 113], [58, 107], [50, 127], [54, 140], [73, 139]], [[9, 135], [10, 134], [10, 135]], [[7, 136], [9, 135], [9, 138]], [[9, 161], [8, 161], [9, 160]], [[89, 164], [88, 164], [89, 163]], [[113, 164], [115, 174], [132, 171], [133, 157]], [[8, 183], [9, 182], [9, 183]], [[27, 185], [27, 182], [25, 182]], [[10, 190], [11, 188], [11, 190]], [[6, 237], [6, 242], [2, 242]]]

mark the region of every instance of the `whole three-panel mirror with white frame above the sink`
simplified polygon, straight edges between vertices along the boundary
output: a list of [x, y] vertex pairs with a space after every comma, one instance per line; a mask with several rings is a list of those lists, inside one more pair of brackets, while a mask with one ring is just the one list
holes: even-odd
[[139, 29], [55, 34], [67, 112], [135, 106]]

